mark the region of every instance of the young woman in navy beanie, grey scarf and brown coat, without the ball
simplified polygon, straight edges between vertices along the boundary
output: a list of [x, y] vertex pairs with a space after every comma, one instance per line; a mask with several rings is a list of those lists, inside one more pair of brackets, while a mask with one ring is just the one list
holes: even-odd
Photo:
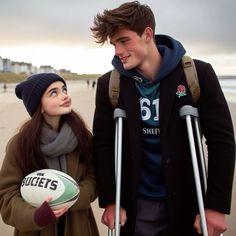
[[[98, 236], [91, 209], [97, 197], [93, 172], [92, 134], [71, 107], [65, 80], [54, 73], [28, 77], [15, 88], [31, 118], [6, 147], [0, 171], [0, 212], [19, 236]], [[80, 197], [69, 209], [52, 210], [48, 199], [35, 208], [20, 195], [22, 179], [44, 169], [74, 178]]]

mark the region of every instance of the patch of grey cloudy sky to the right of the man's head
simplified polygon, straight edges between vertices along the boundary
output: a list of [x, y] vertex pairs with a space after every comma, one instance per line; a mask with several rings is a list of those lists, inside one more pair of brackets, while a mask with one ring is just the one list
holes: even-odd
[[167, 9], [157, 13], [161, 31], [202, 53], [236, 52], [234, 0], [171, 1]]

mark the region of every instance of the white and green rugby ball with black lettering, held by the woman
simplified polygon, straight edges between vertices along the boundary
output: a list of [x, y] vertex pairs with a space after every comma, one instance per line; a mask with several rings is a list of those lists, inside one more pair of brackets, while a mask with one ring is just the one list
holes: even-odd
[[22, 198], [34, 207], [40, 207], [51, 197], [49, 205], [53, 210], [71, 207], [80, 194], [79, 186], [71, 176], [54, 169], [42, 169], [25, 176], [20, 192]]

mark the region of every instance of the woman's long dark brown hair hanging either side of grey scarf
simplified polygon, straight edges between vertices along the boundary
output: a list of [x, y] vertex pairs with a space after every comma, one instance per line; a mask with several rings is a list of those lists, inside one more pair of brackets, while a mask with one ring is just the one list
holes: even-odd
[[[45, 156], [40, 150], [41, 127], [43, 115], [39, 108], [32, 118], [25, 122], [19, 131], [19, 164], [25, 175], [43, 168], [47, 168]], [[67, 122], [78, 140], [78, 148], [82, 160], [90, 162], [92, 159], [92, 134], [82, 117], [72, 110], [71, 113], [61, 117], [61, 125]]]

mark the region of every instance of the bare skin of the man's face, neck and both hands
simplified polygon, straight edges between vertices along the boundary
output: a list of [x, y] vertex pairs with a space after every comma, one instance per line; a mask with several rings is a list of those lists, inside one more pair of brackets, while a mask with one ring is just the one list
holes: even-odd
[[[142, 35], [129, 29], [121, 29], [109, 38], [114, 46], [115, 55], [123, 63], [124, 69], [135, 68], [140, 74], [149, 80], [154, 80], [158, 73], [162, 57], [154, 42], [154, 33], [150, 27], [146, 27]], [[218, 236], [227, 229], [225, 214], [212, 209], [206, 209], [206, 220], [209, 236]], [[120, 223], [126, 222], [126, 211], [121, 208]], [[114, 228], [115, 204], [108, 205], [102, 215], [102, 223], [109, 228]], [[196, 216], [194, 227], [201, 233], [200, 217]]]

